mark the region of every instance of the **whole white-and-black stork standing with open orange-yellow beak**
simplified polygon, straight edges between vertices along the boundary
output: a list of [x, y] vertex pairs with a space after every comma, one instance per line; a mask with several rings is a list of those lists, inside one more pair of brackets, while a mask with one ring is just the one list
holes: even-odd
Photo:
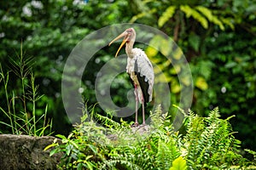
[[133, 48], [133, 44], [136, 38], [136, 32], [133, 28], [126, 29], [118, 37], [114, 38], [108, 45], [119, 38], [124, 37], [115, 57], [118, 56], [119, 50], [125, 45], [125, 52], [127, 54], [126, 72], [131, 78], [132, 85], [134, 87], [134, 94], [136, 97], [136, 116], [134, 127], [139, 124], [137, 122], [137, 105], [138, 101], [143, 105], [143, 125], [145, 122], [145, 105], [152, 100], [153, 86], [154, 86], [154, 70], [148, 56], [140, 48]]

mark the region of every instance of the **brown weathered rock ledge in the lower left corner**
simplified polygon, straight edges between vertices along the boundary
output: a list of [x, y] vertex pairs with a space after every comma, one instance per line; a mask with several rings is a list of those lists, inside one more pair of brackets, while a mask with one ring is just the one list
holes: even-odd
[[61, 155], [50, 157], [49, 150], [44, 151], [54, 139], [50, 136], [0, 134], [0, 169], [56, 169]]

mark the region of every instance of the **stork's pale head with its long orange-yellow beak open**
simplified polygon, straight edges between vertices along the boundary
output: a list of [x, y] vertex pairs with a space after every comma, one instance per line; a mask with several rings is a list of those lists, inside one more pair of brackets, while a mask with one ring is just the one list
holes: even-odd
[[123, 33], [121, 33], [118, 37], [114, 38], [113, 41], [108, 44], [108, 46], [110, 46], [113, 42], [117, 41], [121, 37], [124, 37], [124, 40], [121, 43], [118, 51], [116, 52], [115, 57], [117, 57], [120, 49], [125, 45], [125, 43], [127, 43], [127, 44], [131, 43], [131, 45], [133, 45], [133, 43], [135, 42], [135, 38], [136, 38], [136, 32], [133, 28], [128, 28]]

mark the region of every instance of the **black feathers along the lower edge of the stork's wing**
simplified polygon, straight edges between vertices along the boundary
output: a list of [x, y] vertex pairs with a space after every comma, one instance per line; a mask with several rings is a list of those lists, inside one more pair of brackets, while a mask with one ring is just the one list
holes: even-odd
[[148, 94], [149, 84], [148, 82], [145, 81], [145, 76], [141, 77], [141, 73], [138, 71], [137, 59], [135, 60], [134, 71], [135, 71], [135, 75], [137, 75], [137, 80], [140, 83], [140, 87], [142, 88], [142, 91], [143, 91], [144, 103], [147, 104], [149, 101], [149, 94]]

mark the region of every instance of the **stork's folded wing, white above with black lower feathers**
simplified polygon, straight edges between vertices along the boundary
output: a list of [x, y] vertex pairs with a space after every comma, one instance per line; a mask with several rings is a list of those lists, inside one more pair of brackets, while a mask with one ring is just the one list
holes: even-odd
[[133, 48], [135, 56], [134, 71], [137, 74], [137, 80], [143, 91], [143, 97], [145, 102], [152, 100], [152, 92], [154, 85], [154, 70], [151, 62], [143, 50], [139, 48]]

